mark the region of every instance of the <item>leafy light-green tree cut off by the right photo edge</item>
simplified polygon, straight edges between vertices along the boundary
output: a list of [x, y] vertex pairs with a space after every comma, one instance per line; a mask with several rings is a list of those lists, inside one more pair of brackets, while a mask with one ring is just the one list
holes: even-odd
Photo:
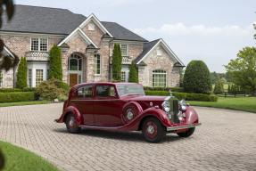
[[237, 58], [224, 65], [233, 83], [244, 90], [256, 94], [256, 48], [245, 47], [237, 53]]

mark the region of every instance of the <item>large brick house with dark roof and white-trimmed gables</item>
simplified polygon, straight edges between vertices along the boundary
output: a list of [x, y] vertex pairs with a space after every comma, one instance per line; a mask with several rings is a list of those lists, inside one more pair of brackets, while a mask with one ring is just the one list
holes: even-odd
[[[113, 45], [122, 53], [121, 81], [128, 82], [131, 61], [135, 61], [139, 82], [145, 86], [179, 86], [184, 67], [162, 39], [147, 41], [116, 22], [100, 21], [65, 9], [15, 5], [10, 22], [3, 14], [0, 38], [4, 54], [25, 56], [28, 85], [37, 86], [49, 75], [49, 51], [62, 50], [63, 81], [70, 86], [111, 79]], [[3, 70], [0, 87], [15, 87], [17, 68]]]

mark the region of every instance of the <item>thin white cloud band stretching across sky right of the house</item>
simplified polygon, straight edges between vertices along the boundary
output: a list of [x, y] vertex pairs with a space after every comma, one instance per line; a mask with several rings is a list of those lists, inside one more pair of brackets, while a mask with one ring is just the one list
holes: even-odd
[[[256, 23], [253, 22], [253, 23]], [[252, 24], [253, 24], [252, 23]], [[160, 33], [169, 36], [179, 36], [188, 34], [200, 34], [203, 36], [208, 35], [226, 35], [230, 37], [252, 37], [254, 28], [249, 25], [247, 28], [240, 28], [239, 26], [225, 26], [225, 27], [206, 27], [204, 25], [196, 25], [191, 27], [186, 27], [182, 22], [176, 24], [164, 24], [161, 28], [135, 28], [134, 32], [137, 34], [146, 33]]]

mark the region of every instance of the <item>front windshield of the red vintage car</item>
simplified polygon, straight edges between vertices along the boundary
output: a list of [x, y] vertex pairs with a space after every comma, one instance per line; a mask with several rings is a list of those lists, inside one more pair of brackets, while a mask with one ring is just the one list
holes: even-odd
[[117, 85], [120, 96], [126, 94], [145, 95], [142, 85]]

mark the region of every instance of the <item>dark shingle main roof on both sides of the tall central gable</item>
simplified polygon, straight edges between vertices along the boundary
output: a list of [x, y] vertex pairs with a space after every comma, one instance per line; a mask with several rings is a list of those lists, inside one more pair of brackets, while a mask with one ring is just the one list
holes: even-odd
[[[3, 13], [3, 25], [0, 30], [29, 33], [47, 33], [69, 35], [85, 20], [82, 14], [76, 14], [66, 9], [47, 8], [15, 4], [15, 12], [11, 22], [7, 22]], [[103, 26], [115, 39], [146, 41], [127, 28], [115, 22], [103, 22]]]

